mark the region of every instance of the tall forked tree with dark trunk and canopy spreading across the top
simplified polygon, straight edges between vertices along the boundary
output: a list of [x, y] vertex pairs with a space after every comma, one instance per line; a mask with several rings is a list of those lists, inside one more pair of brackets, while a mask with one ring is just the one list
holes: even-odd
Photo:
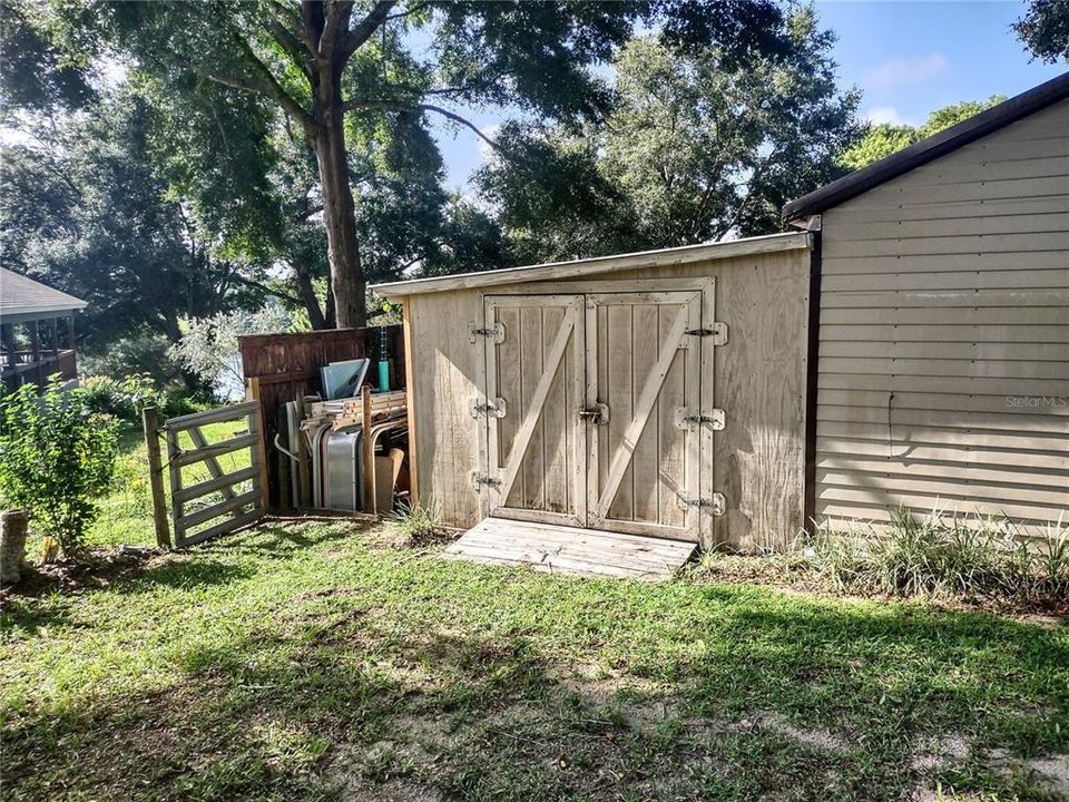
[[[214, 124], [224, 163], [215, 175], [229, 175], [229, 163], [254, 187], [265, 182], [269, 159], [253, 157], [268, 147], [269, 119], [284, 120], [303, 140], [317, 168], [340, 325], [365, 319], [367, 256], [356, 205], [374, 200], [353, 192], [350, 174], [350, 148], [362, 130], [425, 138], [430, 116], [478, 130], [458, 109], [484, 104], [549, 119], [594, 118], [610, 92], [590, 67], [637, 22], [667, 20], [665, 37], [677, 47], [717, 42], [738, 58], [785, 47], [782, 13], [769, 0], [53, 0], [47, 9], [33, 31], [47, 35], [50, 48], [75, 63], [118, 57], [173, 106], [173, 119], [189, 123], [187, 130]], [[206, 150], [189, 144], [193, 153]], [[388, 151], [380, 148], [372, 163]], [[194, 188], [210, 197], [212, 185]], [[253, 192], [242, 203], [252, 208], [262, 199]]]

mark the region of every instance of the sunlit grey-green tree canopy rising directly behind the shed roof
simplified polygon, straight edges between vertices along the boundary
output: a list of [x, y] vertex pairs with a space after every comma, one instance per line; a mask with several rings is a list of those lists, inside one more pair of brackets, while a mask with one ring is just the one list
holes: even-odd
[[648, 35], [614, 59], [601, 124], [512, 123], [479, 176], [523, 261], [764, 234], [779, 208], [842, 173], [859, 96], [835, 86], [811, 9], [781, 22], [788, 47], [738, 62], [716, 46]]

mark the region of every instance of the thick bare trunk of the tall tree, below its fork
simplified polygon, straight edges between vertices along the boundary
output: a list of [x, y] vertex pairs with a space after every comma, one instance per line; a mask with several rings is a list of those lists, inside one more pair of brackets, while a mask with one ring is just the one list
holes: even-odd
[[[320, 168], [323, 193], [323, 223], [331, 263], [331, 286], [335, 314], [341, 329], [361, 327], [367, 322], [364, 294], [366, 282], [356, 246], [356, 217], [353, 190], [349, 184], [345, 158], [345, 130], [339, 92], [331, 92], [320, 106], [320, 125], [312, 147]], [[326, 106], [324, 108], [324, 106]]]

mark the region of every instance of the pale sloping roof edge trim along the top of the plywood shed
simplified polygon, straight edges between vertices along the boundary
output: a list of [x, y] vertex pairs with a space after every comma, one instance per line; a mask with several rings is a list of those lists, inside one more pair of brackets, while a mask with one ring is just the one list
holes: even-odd
[[771, 234], [768, 236], [703, 245], [685, 245], [660, 251], [641, 251], [614, 256], [573, 260], [571, 262], [551, 262], [527, 267], [483, 271], [481, 273], [461, 273], [437, 278], [414, 278], [405, 282], [375, 284], [371, 288], [386, 297], [406, 297], [449, 290], [481, 290], [519, 282], [578, 278], [598, 273], [614, 273], [640, 267], [665, 267], [732, 258], [734, 256], [808, 250], [810, 247], [812, 247], [812, 237], [808, 233]]

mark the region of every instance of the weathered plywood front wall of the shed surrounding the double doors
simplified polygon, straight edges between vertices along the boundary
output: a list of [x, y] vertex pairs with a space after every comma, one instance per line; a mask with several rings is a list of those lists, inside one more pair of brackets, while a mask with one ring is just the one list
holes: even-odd
[[511, 284], [487, 285], [484, 276], [493, 274], [482, 274], [452, 277], [444, 286], [454, 288], [435, 292], [411, 292], [412, 283], [379, 288], [404, 304], [419, 497], [433, 498], [453, 527], [473, 526], [484, 515], [471, 476], [486, 460], [486, 423], [472, 417], [471, 404], [486, 364], [483, 345], [470, 334], [484, 322], [484, 296], [712, 277], [713, 316], [729, 332], [715, 349], [713, 400], [727, 420], [713, 434], [713, 459], [703, 469], [712, 471], [726, 509], [710, 519], [702, 540], [753, 548], [793, 538], [803, 525], [810, 245], [807, 234], [794, 234], [704, 246], [698, 261], [694, 251], [689, 261], [677, 258], [687, 251], [680, 248], [598, 261], [605, 263], [598, 272], [578, 262], [571, 275], [567, 266], [557, 271], [551, 285], [513, 271]]

